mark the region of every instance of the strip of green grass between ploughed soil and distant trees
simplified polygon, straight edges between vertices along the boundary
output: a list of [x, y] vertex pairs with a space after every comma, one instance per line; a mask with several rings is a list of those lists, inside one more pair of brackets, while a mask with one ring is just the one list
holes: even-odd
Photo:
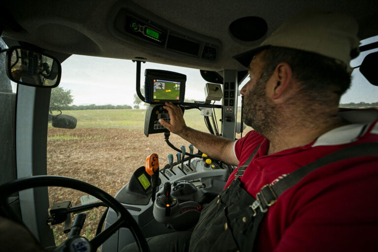
[[[62, 112], [77, 119], [77, 128], [143, 129], [146, 115], [145, 109], [63, 110]], [[221, 130], [220, 109], [216, 109], [216, 117]], [[189, 127], [207, 132], [203, 116], [198, 109], [186, 110], [184, 119]], [[51, 127], [51, 124], [49, 126]]]

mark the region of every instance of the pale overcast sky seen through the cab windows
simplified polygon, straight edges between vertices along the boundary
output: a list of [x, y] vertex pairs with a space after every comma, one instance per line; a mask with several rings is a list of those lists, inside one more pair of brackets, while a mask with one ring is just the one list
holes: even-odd
[[[378, 36], [361, 42], [362, 44], [367, 44], [377, 39]], [[365, 55], [366, 53], [362, 53], [357, 59], [353, 60], [351, 66], [359, 65]], [[206, 81], [202, 79], [198, 69], [157, 63], [142, 63], [141, 86], [144, 85], [144, 70], [146, 68], [186, 74], [187, 85], [185, 97], [195, 100], [205, 99], [204, 86]], [[71, 95], [74, 97], [73, 104], [75, 105], [133, 105], [135, 78], [136, 63], [132, 63], [129, 60], [73, 55], [62, 63], [60, 87], [71, 90]], [[353, 85], [343, 95], [341, 103], [378, 101], [378, 87], [369, 84], [358, 69], [353, 71], [352, 78]]]

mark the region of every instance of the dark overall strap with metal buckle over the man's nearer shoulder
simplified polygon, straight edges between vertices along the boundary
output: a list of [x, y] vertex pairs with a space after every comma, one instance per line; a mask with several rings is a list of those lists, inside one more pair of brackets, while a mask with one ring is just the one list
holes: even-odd
[[378, 157], [378, 143], [362, 143], [356, 144], [331, 154], [328, 154], [316, 161], [309, 163], [301, 168], [288, 174], [286, 177], [278, 181], [273, 186], [269, 184], [260, 189], [260, 192], [256, 194], [256, 200], [251, 205], [253, 211], [260, 208], [262, 212], [268, 211], [268, 208], [276, 203], [277, 198], [287, 189], [296, 185], [307, 174], [314, 171], [317, 168], [328, 165], [333, 162], [345, 160], [348, 158], [357, 158], [364, 156], [376, 156]]

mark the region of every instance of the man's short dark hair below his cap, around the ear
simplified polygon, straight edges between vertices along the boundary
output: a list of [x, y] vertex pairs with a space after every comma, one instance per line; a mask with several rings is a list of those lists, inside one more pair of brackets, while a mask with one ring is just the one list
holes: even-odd
[[[347, 65], [326, 56], [301, 50], [271, 46], [262, 60], [264, 75], [271, 76], [279, 63], [288, 63], [293, 77], [301, 83], [301, 94], [324, 102], [330, 92], [340, 97], [350, 86]], [[332, 95], [335, 96], [335, 95]]]

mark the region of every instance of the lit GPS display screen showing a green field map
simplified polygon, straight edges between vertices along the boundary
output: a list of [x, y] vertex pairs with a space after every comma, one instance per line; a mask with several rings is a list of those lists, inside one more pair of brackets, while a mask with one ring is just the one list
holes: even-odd
[[154, 100], [180, 100], [180, 84], [154, 79]]

